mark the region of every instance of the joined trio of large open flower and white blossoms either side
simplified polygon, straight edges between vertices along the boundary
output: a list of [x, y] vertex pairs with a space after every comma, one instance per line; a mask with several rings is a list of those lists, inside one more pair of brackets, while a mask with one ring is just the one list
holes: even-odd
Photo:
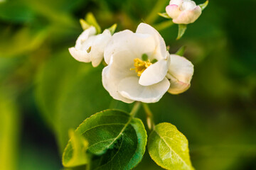
[[107, 67], [102, 71], [102, 84], [114, 99], [154, 103], [166, 91], [180, 94], [189, 88], [193, 64], [170, 55], [164, 39], [148, 24], [139, 24], [135, 33], [95, 33], [93, 26], [85, 30], [70, 54], [80, 62], [92, 62], [93, 67], [104, 58]]

